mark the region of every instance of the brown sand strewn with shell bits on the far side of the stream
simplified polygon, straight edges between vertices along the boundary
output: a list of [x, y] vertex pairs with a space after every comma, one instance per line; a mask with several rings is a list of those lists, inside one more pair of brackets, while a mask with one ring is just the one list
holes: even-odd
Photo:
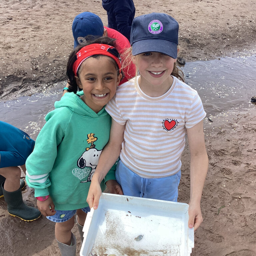
[[[166, 12], [179, 22], [180, 56], [187, 61], [246, 54], [255, 47], [255, 1], [134, 2], [136, 16]], [[34, 92], [42, 84], [65, 79], [73, 48], [72, 21], [83, 11], [94, 12], [107, 25], [101, 1], [0, 1], [0, 97]]]

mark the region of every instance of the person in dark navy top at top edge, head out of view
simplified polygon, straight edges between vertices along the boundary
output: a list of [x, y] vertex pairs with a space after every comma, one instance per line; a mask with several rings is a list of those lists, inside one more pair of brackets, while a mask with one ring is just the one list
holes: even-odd
[[107, 11], [108, 27], [117, 30], [130, 41], [135, 15], [133, 0], [102, 0], [102, 7]]

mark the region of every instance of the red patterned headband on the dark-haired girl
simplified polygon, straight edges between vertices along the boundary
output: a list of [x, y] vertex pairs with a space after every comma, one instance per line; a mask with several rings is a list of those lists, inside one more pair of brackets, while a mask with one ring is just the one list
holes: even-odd
[[119, 68], [119, 74], [121, 73], [121, 58], [115, 47], [107, 44], [90, 44], [84, 46], [79, 52], [77, 52], [77, 60], [73, 64], [74, 75], [77, 76], [77, 71], [84, 60], [93, 55], [106, 55], [115, 60]]

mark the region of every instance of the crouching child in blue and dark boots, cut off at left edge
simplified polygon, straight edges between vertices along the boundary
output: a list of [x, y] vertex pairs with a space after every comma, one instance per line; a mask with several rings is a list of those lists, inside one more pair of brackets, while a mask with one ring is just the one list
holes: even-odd
[[24, 204], [21, 189], [26, 183], [20, 179], [21, 169], [26, 174], [25, 162], [33, 151], [35, 141], [22, 130], [3, 121], [0, 121], [0, 141], [0, 197], [4, 197], [11, 216], [25, 221], [36, 220], [41, 213]]

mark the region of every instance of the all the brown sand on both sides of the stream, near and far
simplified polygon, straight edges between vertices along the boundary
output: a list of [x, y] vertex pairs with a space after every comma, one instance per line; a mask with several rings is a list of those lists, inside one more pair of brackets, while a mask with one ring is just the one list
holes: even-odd
[[[134, 1], [136, 16], [166, 12], [180, 24], [180, 56], [186, 61], [254, 53], [256, 3], [251, 0]], [[72, 20], [82, 11], [107, 16], [101, 1], [2, 0], [0, 2], [0, 98], [36, 92], [65, 79], [73, 48]], [[255, 54], [255, 53], [254, 53]], [[256, 94], [256, 93], [255, 93]], [[255, 108], [205, 121], [209, 171], [202, 196], [204, 222], [191, 256], [256, 255]], [[180, 202], [189, 201], [189, 150], [183, 153]], [[35, 204], [33, 195], [26, 192]], [[20, 221], [0, 200], [0, 255], [60, 255], [54, 223]], [[77, 237], [77, 255], [80, 238]]]

